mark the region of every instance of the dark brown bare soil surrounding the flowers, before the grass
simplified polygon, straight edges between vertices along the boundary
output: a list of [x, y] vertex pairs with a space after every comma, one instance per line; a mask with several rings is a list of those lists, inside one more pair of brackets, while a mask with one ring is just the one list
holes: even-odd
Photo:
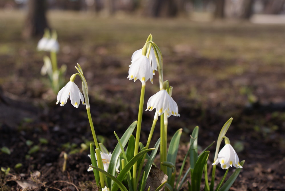
[[[65, 37], [66, 42], [73, 40], [68, 38]], [[35, 44], [36, 42], [33, 45]], [[106, 43], [105, 46], [108, 47], [109, 44]], [[104, 45], [94, 49], [104, 52], [102, 47]], [[49, 90], [47, 81], [39, 74], [41, 55], [35, 50], [24, 48], [19, 50], [19, 54], [23, 57], [21, 67], [15, 64], [11, 56], [0, 55], [0, 59], [6, 63], [1, 71], [3, 77], [8, 79], [1, 82], [0, 148], [6, 146], [11, 151], [11, 154], [0, 152], [1, 167], [11, 168], [7, 176], [1, 174], [0, 190], [22, 190], [23, 184], [28, 184], [32, 190], [95, 189], [93, 173], [87, 172], [91, 163], [87, 156], [89, 150], [81, 146], [83, 143], [88, 145], [92, 140], [85, 107], [80, 105], [79, 108], [74, 108], [70, 102], [62, 107], [56, 105], [56, 95]], [[284, 80], [282, 64], [275, 63], [268, 70], [249, 70], [241, 75], [216, 79], [205, 78], [196, 72], [201, 68], [204, 71], [220, 71], [231, 63], [241, 61], [206, 58], [197, 56], [196, 53], [174, 51], [172, 54], [175, 56], [164, 56], [164, 63], [179, 63], [180, 66], [166, 69], [168, 79], [174, 86], [173, 97], [181, 115], [179, 118], [169, 118], [168, 137], [183, 128], [177, 168], [181, 166], [188, 149], [189, 135], [196, 125], [199, 126], [198, 144], [201, 152], [217, 139], [223, 124], [233, 117], [227, 136], [245, 164], [230, 190], [285, 190], [285, 101], [282, 99], [285, 89], [274, 83]], [[124, 59], [130, 60], [130, 57]], [[78, 53], [76, 49], [71, 49], [68, 55], [58, 55], [59, 63], [68, 65], [67, 79], [76, 72], [74, 60], [82, 61], [82, 69], [86, 71], [89, 83], [91, 114], [96, 134], [100, 142], [111, 151], [117, 143], [113, 131], [121, 136], [137, 120], [140, 83], [127, 80], [129, 63], [120, 61], [119, 57], [102, 54], [96, 61], [86, 61], [88, 58], [90, 56]], [[28, 64], [30, 62], [33, 62], [32, 66]], [[184, 71], [188, 71], [189, 65], [191, 75]], [[257, 62], [250, 63], [252, 68], [257, 65]], [[11, 67], [14, 68], [13, 73]], [[170, 71], [178, 73], [179, 78], [170, 75]], [[267, 79], [271, 83], [266, 83]], [[76, 80], [80, 85], [79, 79]], [[251, 86], [252, 94], [239, 93], [240, 87], [235, 84], [240, 81], [254, 84]], [[146, 86], [151, 87], [149, 82]], [[191, 89], [190, 86], [196, 89]], [[230, 89], [230, 93], [221, 92], [219, 87]], [[147, 89], [145, 98], [149, 98], [155, 91], [153, 87]], [[153, 114], [143, 112], [141, 141], [144, 143]], [[156, 128], [152, 145], [158, 137], [159, 130]], [[209, 150], [211, 166], [215, 145]], [[68, 160], [66, 170], [62, 172], [64, 152], [68, 153]], [[18, 163], [22, 166], [16, 168]], [[218, 166], [216, 182], [222, 178], [223, 172]]]

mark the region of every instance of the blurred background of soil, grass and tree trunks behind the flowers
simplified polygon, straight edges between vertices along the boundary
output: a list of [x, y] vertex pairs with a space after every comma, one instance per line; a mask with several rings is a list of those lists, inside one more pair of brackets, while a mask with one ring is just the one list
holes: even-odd
[[[58, 34], [58, 66], [67, 65], [66, 81], [76, 63], [82, 66], [96, 134], [110, 150], [113, 130], [122, 134], [137, 120], [141, 85], [127, 79], [128, 66], [152, 33], [181, 114], [168, 122], [170, 137], [184, 130], [179, 153], [196, 125], [204, 148], [234, 117], [227, 136], [246, 160], [236, 190], [284, 189], [284, 14], [285, 0], [0, 0], [0, 147], [11, 150], [0, 152], [0, 164], [21, 162], [16, 174], [45, 172], [47, 164], [62, 165], [60, 152], [71, 152], [74, 184], [92, 180], [80, 175], [90, 163], [80, 144], [92, 140], [85, 108], [55, 105], [56, 94], [40, 75], [49, 53], [36, 47], [45, 28]], [[145, 99], [158, 90], [156, 73]], [[142, 142], [153, 114], [143, 114]], [[39, 138], [50, 141], [44, 145]], [[36, 154], [27, 156], [27, 140], [41, 144]], [[58, 174], [50, 180], [68, 179]]]

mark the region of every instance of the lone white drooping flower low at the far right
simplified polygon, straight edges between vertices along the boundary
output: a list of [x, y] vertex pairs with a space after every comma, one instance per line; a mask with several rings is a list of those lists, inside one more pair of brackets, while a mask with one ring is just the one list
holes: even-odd
[[239, 164], [239, 157], [231, 144], [225, 144], [225, 146], [220, 150], [217, 160], [212, 165], [217, 165], [219, 163], [223, 169], [228, 169], [230, 166], [243, 168]]

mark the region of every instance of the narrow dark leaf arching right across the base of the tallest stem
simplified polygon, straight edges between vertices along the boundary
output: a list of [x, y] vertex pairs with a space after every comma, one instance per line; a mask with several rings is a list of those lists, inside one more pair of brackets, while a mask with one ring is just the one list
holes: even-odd
[[[137, 160], [140, 159], [141, 156], [143, 156], [146, 152], [154, 150], [155, 148], [149, 148], [149, 149], [145, 149], [146, 147], [144, 147], [143, 150], [141, 150], [138, 154], [136, 154], [126, 165], [125, 167], [122, 169], [122, 171], [119, 173], [119, 175], [117, 176], [117, 180], [119, 180], [120, 182], [122, 182], [122, 180], [125, 178], [125, 176], [127, 175], [128, 171], [133, 167], [133, 165], [137, 162]], [[113, 185], [112, 191], [117, 191], [118, 189], [117, 184]]]

